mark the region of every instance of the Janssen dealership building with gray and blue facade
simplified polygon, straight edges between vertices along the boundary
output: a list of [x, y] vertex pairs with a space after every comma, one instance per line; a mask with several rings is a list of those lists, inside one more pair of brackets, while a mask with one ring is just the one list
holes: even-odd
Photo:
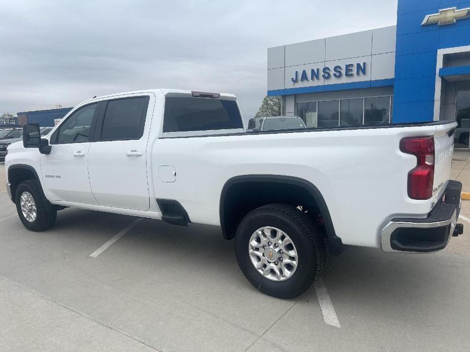
[[307, 127], [456, 120], [470, 134], [470, 2], [398, 0], [397, 25], [268, 49], [267, 89]]

